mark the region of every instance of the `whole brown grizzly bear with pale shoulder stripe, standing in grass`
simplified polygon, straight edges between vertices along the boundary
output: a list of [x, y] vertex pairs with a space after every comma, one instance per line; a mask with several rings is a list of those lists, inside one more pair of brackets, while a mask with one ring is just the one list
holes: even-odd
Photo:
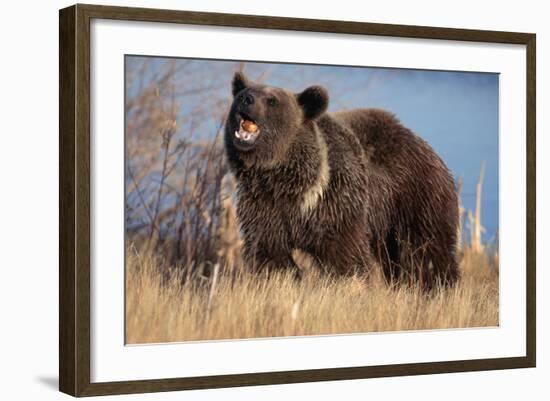
[[299, 251], [338, 275], [457, 281], [454, 181], [423, 139], [383, 110], [327, 112], [321, 86], [294, 94], [237, 72], [232, 93], [225, 149], [249, 266], [300, 276]]

